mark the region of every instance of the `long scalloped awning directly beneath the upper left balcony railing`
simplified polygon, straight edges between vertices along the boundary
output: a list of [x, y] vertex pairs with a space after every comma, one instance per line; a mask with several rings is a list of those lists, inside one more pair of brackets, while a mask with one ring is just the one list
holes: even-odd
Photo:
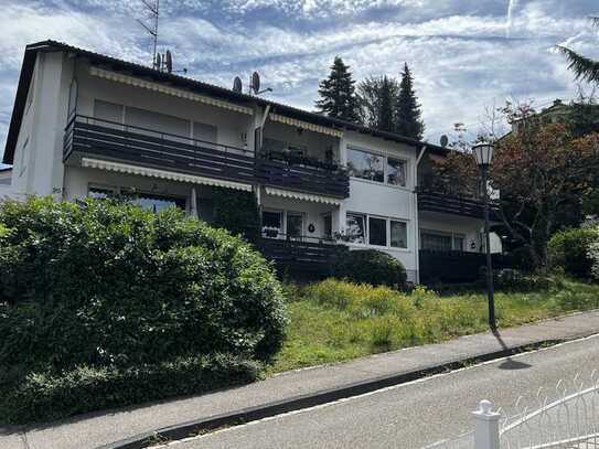
[[189, 182], [191, 184], [215, 185], [218, 188], [228, 188], [252, 192], [252, 184], [244, 184], [242, 182], [218, 180], [214, 178], [205, 178], [188, 173], [178, 173], [174, 171], [167, 171], [160, 169], [150, 169], [147, 167], [131, 165], [129, 163], [122, 162], [105, 161], [101, 159], [82, 158], [82, 167], [115, 171], [127, 174], [137, 174], [141, 177], [158, 178], [169, 181]]

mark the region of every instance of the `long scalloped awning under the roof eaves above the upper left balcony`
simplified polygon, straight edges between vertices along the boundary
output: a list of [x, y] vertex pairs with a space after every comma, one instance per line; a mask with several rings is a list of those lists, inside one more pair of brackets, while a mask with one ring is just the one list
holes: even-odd
[[98, 77], [104, 78], [104, 79], [109, 79], [109, 81], [114, 81], [114, 82], [117, 82], [117, 83], [124, 83], [124, 84], [127, 84], [129, 86], [141, 87], [141, 88], [146, 88], [146, 89], [149, 89], [149, 90], [160, 92], [162, 94], [190, 99], [190, 100], [193, 100], [193, 101], [200, 101], [200, 103], [204, 103], [206, 105], [217, 106], [217, 107], [221, 107], [221, 108], [224, 108], [224, 109], [234, 110], [236, 113], [248, 114], [248, 115], [254, 114], [254, 110], [252, 108], [248, 108], [248, 107], [245, 107], [245, 106], [239, 106], [239, 105], [236, 105], [234, 103], [229, 103], [229, 101], [225, 101], [225, 100], [222, 100], [222, 99], [207, 97], [205, 95], [195, 94], [193, 92], [179, 89], [179, 88], [175, 88], [175, 87], [170, 87], [170, 86], [167, 86], [164, 84], [137, 78], [135, 76], [129, 76], [129, 75], [124, 75], [124, 74], [120, 74], [120, 73], [107, 71], [107, 70], [99, 68], [99, 67], [96, 67], [96, 66], [90, 66], [89, 67], [89, 74], [92, 74], [94, 76], [98, 76]]

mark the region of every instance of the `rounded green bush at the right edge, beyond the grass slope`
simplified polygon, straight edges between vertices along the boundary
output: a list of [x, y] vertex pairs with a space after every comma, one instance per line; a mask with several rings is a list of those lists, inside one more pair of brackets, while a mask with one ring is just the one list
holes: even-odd
[[588, 253], [590, 245], [599, 240], [599, 227], [584, 227], [560, 231], [548, 244], [549, 267], [565, 275], [590, 279], [592, 260]]

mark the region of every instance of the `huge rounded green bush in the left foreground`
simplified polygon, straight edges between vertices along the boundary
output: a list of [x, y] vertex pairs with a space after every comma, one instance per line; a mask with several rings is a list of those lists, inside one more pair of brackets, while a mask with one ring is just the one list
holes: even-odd
[[281, 346], [271, 267], [181, 211], [33, 197], [0, 205], [0, 371], [12, 382], [218, 353], [268, 362]]

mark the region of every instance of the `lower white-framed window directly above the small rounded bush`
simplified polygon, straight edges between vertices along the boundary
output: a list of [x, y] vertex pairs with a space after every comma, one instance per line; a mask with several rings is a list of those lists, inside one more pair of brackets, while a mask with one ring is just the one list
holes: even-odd
[[399, 220], [350, 212], [345, 233], [350, 243], [408, 248], [407, 223]]

